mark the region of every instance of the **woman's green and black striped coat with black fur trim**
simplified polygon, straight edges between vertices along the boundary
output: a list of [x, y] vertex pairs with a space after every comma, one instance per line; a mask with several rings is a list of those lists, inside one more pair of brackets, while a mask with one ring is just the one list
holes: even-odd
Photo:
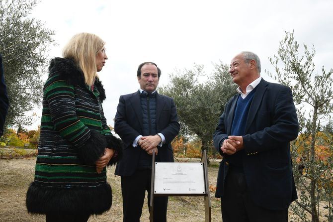
[[104, 148], [121, 156], [122, 143], [111, 134], [102, 109], [105, 92], [96, 78], [93, 91], [72, 61], [55, 58], [44, 85], [43, 113], [35, 179], [27, 195], [30, 213], [101, 214], [112, 204], [106, 168], [97, 174], [95, 161]]

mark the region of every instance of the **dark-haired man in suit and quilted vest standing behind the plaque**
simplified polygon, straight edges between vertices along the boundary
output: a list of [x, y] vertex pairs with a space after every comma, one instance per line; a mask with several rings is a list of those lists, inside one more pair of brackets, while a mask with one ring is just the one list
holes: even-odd
[[[173, 162], [170, 142], [180, 126], [173, 99], [156, 92], [160, 76], [155, 63], [140, 64], [139, 91], [119, 98], [114, 130], [125, 148], [115, 174], [121, 176], [124, 222], [140, 221], [146, 191], [150, 202], [152, 151], [157, 162]], [[154, 198], [154, 221], [167, 221], [167, 197]]]

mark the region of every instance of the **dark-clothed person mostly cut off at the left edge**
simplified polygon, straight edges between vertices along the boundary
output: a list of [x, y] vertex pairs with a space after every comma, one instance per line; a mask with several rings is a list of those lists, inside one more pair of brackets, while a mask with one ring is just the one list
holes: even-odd
[[0, 136], [3, 134], [3, 124], [8, 110], [8, 96], [3, 74], [2, 57], [0, 54]]

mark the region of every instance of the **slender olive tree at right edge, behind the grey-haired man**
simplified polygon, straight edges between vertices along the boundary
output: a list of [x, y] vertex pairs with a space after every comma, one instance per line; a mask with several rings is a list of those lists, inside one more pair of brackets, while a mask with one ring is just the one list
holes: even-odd
[[[300, 52], [294, 32], [286, 32], [280, 42], [278, 55], [269, 58], [275, 67], [274, 78], [281, 84], [291, 88], [294, 101], [298, 104], [300, 136], [292, 143], [292, 158], [297, 188], [301, 191], [297, 205], [292, 205], [294, 213], [303, 221], [308, 221], [306, 213], [311, 215], [312, 222], [319, 222], [320, 203], [329, 203], [327, 214], [329, 221], [332, 216], [332, 135], [330, 139], [319, 137], [321, 122], [327, 120], [333, 111], [333, 70], [315, 72], [313, 62], [315, 49], [310, 50], [306, 44]], [[270, 74], [271, 75], [271, 74]], [[272, 75], [271, 75], [272, 76]], [[327, 131], [329, 131], [328, 128]], [[318, 148], [328, 150], [331, 155], [320, 158]], [[300, 156], [301, 153], [301, 156]]]

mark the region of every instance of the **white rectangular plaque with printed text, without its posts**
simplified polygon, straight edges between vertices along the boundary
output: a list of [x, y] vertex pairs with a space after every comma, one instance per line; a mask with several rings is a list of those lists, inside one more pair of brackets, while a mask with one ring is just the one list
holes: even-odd
[[155, 163], [155, 194], [206, 194], [203, 163]]

